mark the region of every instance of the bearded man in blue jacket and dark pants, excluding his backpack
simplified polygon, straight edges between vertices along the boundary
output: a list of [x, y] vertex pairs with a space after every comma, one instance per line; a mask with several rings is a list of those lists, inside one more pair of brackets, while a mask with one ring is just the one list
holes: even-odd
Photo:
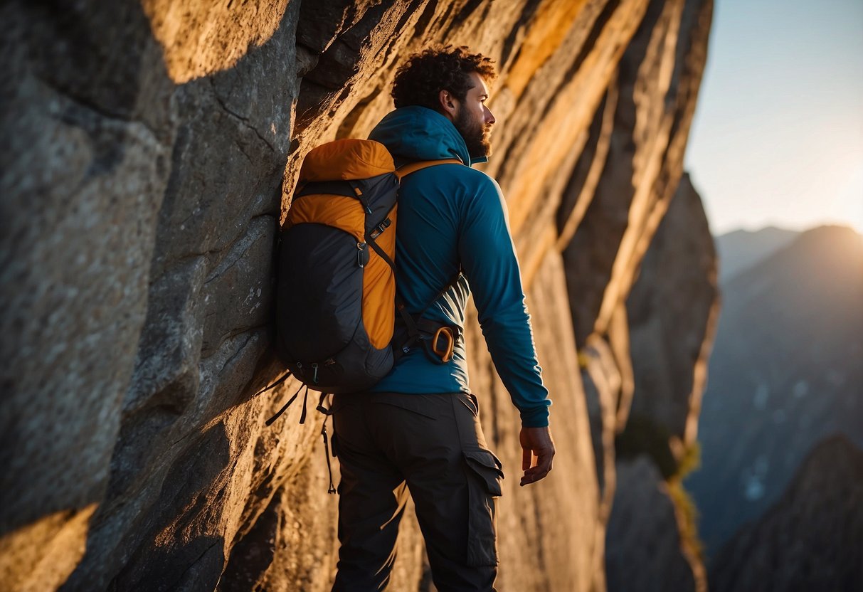
[[463, 164], [421, 169], [400, 188], [396, 283], [407, 311], [432, 324], [425, 344], [414, 343], [371, 392], [333, 401], [333, 448], [342, 469], [334, 590], [387, 585], [406, 488], [438, 590], [494, 589], [501, 463], [482, 435], [460, 331], [448, 362], [425, 347], [438, 342], [429, 339], [433, 326], [463, 327], [470, 293], [494, 366], [520, 411], [521, 485], [551, 470], [550, 401], [506, 205], [494, 180], [469, 167], [491, 154], [494, 116], [485, 101], [494, 75], [491, 60], [464, 47], [415, 54], [396, 73], [396, 110], [369, 136], [387, 147], [397, 167]]

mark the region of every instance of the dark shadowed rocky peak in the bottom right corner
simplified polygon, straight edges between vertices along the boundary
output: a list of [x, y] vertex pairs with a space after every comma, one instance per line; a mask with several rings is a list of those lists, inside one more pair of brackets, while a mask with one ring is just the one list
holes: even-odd
[[740, 529], [710, 570], [710, 589], [859, 590], [863, 450], [844, 436], [809, 453], [778, 502]]

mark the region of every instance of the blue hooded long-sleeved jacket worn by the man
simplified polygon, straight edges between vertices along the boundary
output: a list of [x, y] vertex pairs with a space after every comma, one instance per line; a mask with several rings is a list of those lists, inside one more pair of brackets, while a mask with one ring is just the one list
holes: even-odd
[[[392, 111], [370, 140], [393, 154], [397, 167], [457, 158], [473, 164], [449, 119], [425, 107]], [[484, 159], [483, 159], [484, 160]], [[408, 312], [464, 326], [471, 292], [494, 367], [522, 425], [548, 425], [548, 391], [537, 363], [519, 262], [501, 188], [487, 174], [459, 164], [421, 169], [402, 179], [396, 222], [396, 286]], [[466, 280], [435, 300], [457, 275]], [[415, 346], [371, 390], [387, 393], [470, 393], [464, 340], [452, 360], [436, 364]]]

